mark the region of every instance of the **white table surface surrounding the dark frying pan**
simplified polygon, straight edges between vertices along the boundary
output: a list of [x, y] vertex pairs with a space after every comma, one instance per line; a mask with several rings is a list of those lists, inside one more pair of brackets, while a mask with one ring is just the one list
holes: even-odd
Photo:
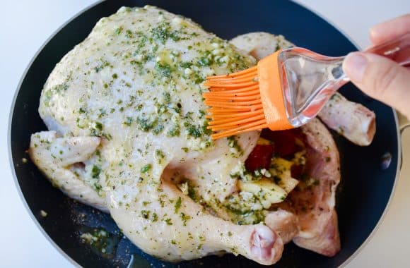
[[[37, 229], [18, 195], [8, 160], [7, 126], [18, 81], [35, 52], [60, 25], [95, 0], [0, 2], [0, 267], [73, 267]], [[299, 2], [329, 19], [361, 47], [370, 44], [371, 25], [410, 12], [409, 0]], [[404, 133], [403, 147], [402, 176], [389, 212], [347, 267], [410, 267], [410, 131]]]

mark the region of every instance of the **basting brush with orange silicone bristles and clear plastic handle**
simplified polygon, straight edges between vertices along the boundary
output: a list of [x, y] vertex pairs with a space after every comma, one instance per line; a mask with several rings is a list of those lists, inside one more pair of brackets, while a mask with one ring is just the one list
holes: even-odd
[[[410, 33], [366, 51], [410, 63]], [[267, 56], [257, 66], [206, 78], [204, 104], [213, 139], [250, 130], [296, 128], [314, 118], [348, 82], [344, 57], [329, 57], [300, 47]]]

